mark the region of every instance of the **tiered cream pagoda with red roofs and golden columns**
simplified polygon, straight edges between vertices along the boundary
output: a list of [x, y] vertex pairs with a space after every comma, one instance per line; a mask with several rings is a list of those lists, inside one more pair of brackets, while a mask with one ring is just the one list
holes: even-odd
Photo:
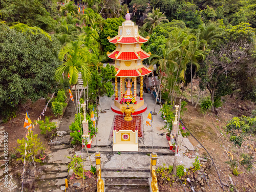
[[[134, 115], [146, 111], [146, 103], [143, 100], [143, 76], [151, 73], [151, 70], [142, 65], [142, 61], [150, 57], [151, 53], [146, 53], [141, 49], [141, 45], [147, 42], [149, 37], [144, 38], [139, 35], [138, 26], [130, 20], [129, 11], [125, 15], [125, 22], [119, 26], [118, 35], [110, 38], [109, 41], [116, 45], [116, 50], [107, 53], [108, 57], [115, 60], [115, 101], [111, 109], [115, 113], [121, 112], [123, 106], [127, 106], [125, 101], [135, 101], [132, 106]], [[117, 78], [120, 78], [120, 97], [118, 97]], [[137, 77], [140, 77], [140, 97], [137, 96]]]

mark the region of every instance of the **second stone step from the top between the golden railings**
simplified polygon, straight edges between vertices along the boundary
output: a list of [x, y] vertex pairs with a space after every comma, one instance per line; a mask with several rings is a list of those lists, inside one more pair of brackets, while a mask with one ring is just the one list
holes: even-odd
[[105, 186], [148, 187], [148, 179], [105, 178]]

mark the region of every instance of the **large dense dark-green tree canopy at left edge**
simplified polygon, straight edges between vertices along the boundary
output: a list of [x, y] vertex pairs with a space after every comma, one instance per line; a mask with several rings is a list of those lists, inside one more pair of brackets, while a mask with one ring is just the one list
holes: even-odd
[[8, 115], [28, 99], [53, 93], [60, 43], [43, 30], [0, 24], [0, 108]]

